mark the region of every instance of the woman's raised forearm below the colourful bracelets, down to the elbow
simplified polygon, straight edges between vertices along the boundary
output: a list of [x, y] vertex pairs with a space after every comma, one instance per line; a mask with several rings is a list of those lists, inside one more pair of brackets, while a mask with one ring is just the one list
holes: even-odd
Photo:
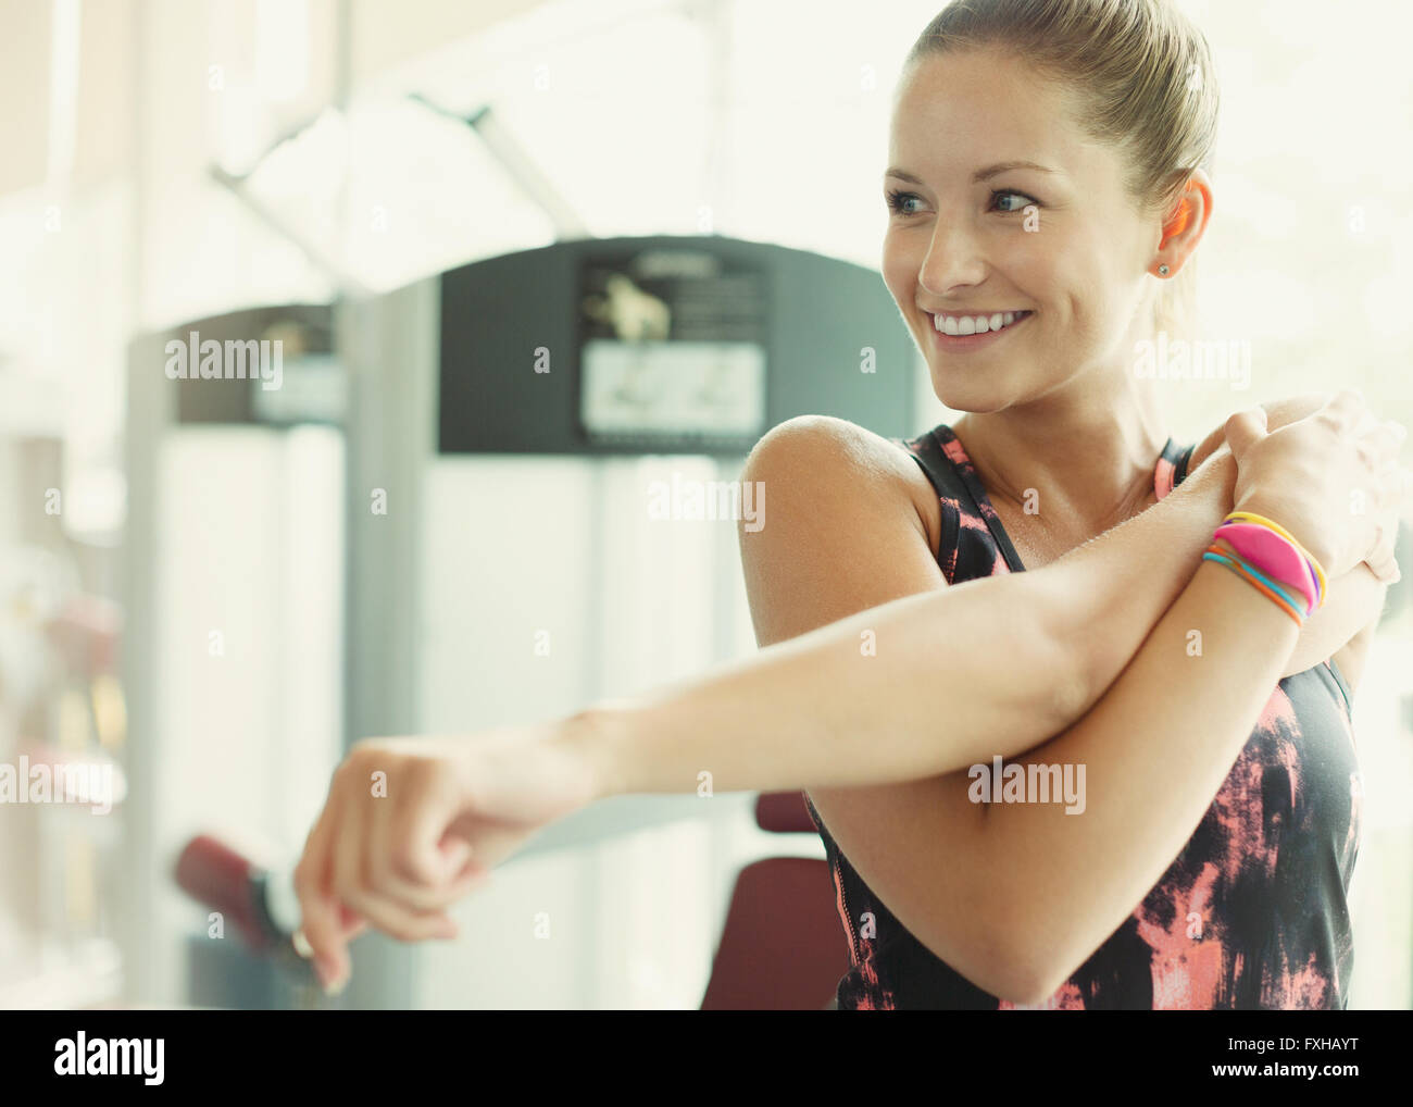
[[1034, 995], [1058, 987], [1178, 855], [1249, 741], [1296, 636], [1275, 604], [1204, 561], [1099, 704], [1016, 762], [1084, 766], [1082, 813], [1002, 803], [982, 820], [985, 913], [1030, 970]]

